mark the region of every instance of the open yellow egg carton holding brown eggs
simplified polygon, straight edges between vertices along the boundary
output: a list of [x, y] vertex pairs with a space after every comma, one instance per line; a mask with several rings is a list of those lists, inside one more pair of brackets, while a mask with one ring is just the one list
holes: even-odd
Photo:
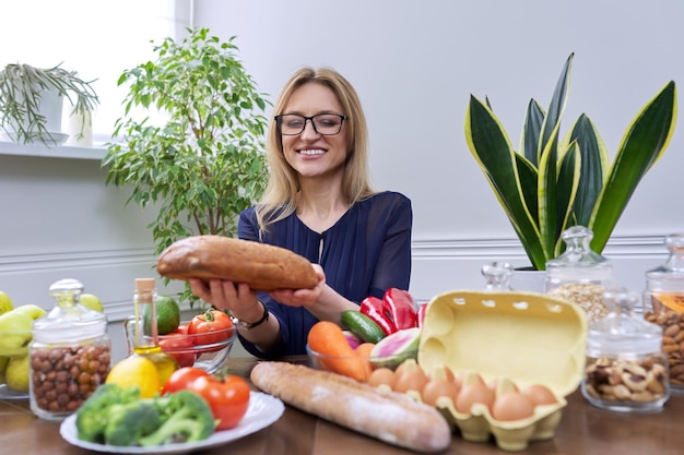
[[571, 301], [512, 291], [450, 291], [427, 304], [417, 359], [425, 371], [448, 367], [462, 375], [462, 386], [477, 376], [485, 383], [497, 381], [497, 396], [512, 387], [543, 384], [556, 398], [555, 404], [535, 406], [528, 418], [502, 421], [484, 404], [463, 414], [451, 398], [440, 397], [436, 407], [451, 428], [471, 442], [493, 436], [505, 451], [553, 439], [567, 406], [565, 396], [581, 382], [583, 310]]

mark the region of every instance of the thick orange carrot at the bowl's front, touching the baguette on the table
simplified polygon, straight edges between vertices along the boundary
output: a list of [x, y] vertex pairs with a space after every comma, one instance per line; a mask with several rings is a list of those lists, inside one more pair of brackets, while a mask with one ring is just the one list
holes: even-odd
[[366, 368], [339, 325], [329, 321], [317, 322], [309, 331], [307, 342], [311, 350], [325, 356], [320, 361], [327, 369], [356, 381], [365, 381]]

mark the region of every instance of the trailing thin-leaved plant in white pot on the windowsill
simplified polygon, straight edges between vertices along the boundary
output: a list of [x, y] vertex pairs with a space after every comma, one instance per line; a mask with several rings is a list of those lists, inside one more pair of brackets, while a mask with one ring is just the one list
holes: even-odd
[[49, 119], [44, 109], [50, 93], [59, 103], [57, 120], [61, 120], [63, 98], [73, 106], [72, 113], [84, 116], [99, 104], [93, 82], [83, 81], [75, 71], [61, 68], [61, 63], [47, 69], [10, 63], [0, 70], [0, 128], [14, 142], [32, 143], [39, 139], [54, 145], [58, 132], [48, 131]]

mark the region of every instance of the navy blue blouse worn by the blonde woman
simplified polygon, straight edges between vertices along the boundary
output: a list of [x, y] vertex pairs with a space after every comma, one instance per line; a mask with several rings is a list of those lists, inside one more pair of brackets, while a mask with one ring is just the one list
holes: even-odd
[[[351, 301], [381, 298], [391, 287], [409, 289], [411, 277], [411, 201], [397, 192], [380, 192], [354, 204], [330, 229], [309, 229], [296, 214], [273, 224], [261, 241], [286, 248], [320, 264], [326, 284]], [[255, 207], [240, 214], [240, 239], [259, 241]], [[281, 326], [281, 343], [271, 351], [259, 350], [240, 337], [245, 349], [261, 358], [306, 354], [306, 338], [318, 322], [308, 310], [259, 298]]]

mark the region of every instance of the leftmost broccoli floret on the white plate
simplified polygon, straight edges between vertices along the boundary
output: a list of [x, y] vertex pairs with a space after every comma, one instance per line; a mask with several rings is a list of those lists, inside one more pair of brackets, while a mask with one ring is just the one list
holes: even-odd
[[121, 387], [117, 384], [102, 384], [76, 410], [76, 430], [82, 441], [105, 442], [105, 428], [109, 420], [109, 408], [138, 400], [137, 386]]

